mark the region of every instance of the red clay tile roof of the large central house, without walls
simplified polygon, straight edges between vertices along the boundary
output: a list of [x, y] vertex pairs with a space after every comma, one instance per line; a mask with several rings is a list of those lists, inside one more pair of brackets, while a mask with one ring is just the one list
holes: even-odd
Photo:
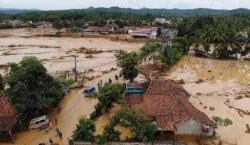
[[171, 80], [153, 80], [139, 104], [132, 104], [153, 116], [161, 130], [175, 131], [176, 124], [189, 119], [212, 126], [206, 114], [196, 109], [189, 101], [189, 94], [182, 86]]

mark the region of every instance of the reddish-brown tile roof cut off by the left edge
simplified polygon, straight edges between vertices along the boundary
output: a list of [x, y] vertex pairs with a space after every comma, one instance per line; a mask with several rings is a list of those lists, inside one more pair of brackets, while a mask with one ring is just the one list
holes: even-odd
[[16, 110], [6, 98], [0, 97], [0, 131], [9, 131], [16, 123]]

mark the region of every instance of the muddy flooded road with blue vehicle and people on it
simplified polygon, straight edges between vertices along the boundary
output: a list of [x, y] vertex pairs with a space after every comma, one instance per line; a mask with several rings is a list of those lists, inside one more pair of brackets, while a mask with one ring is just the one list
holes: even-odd
[[[86, 85], [97, 87], [98, 81], [108, 82], [109, 78], [114, 80], [114, 76], [119, 73], [119, 70], [103, 75], [101, 78], [89, 81]], [[55, 108], [49, 114], [50, 120], [53, 122], [52, 128], [45, 133], [40, 130], [23, 131], [15, 134], [14, 144], [0, 145], [38, 145], [39, 143], [49, 143], [49, 138], [59, 145], [68, 145], [68, 139], [72, 136], [78, 120], [83, 116], [89, 116], [94, 111], [94, 106], [98, 103], [97, 99], [86, 98], [82, 94], [83, 89], [72, 90], [67, 96], [63, 98], [59, 106], [62, 108], [60, 113]], [[57, 119], [57, 125], [55, 124]], [[105, 123], [105, 120], [102, 120]], [[62, 134], [62, 140], [56, 134], [58, 128]], [[97, 130], [99, 127], [97, 126]]]

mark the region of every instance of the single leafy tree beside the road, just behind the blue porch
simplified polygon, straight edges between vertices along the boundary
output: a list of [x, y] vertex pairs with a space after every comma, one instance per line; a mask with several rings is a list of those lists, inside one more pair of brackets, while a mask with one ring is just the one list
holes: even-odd
[[136, 65], [138, 63], [138, 55], [136, 52], [125, 52], [119, 51], [116, 54], [116, 58], [118, 59], [118, 66], [122, 68], [123, 77], [126, 80], [133, 81], [137, 75], [139, 74], [136, 69]]

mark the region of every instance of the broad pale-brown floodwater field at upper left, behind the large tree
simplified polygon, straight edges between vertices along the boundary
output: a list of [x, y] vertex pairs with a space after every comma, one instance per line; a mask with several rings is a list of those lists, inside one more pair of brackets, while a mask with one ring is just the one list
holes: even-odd
[[[104, 38], [1, 37], [0, 68], [3, 70], [8, 63], [19, 62], [24, 56], [36, 56], [50, 73], [71, 71], [74, 67], [73, 56], [77, 55], [79, 70], [104, 69], [106, 65], [115, 65], [115, 51], [136, 50], [142, 45]], [[83, 49], [96, 52], [86, 54], [81, 51]]]

